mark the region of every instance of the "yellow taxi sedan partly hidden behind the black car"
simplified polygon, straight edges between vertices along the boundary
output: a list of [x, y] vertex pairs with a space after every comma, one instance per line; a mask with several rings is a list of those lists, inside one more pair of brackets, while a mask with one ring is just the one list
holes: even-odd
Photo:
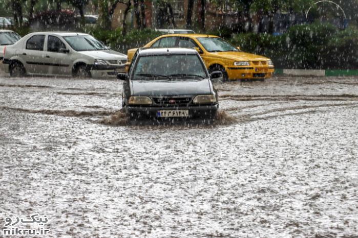
[[[222, 38], [203, 34], [162, 35], [144, 47], [185, 47], [195, 48], [203, 59], [209, 73], [221, 71], [223, 81], [238, 79], [261, 79], [272, 76], [275, 66], [269, 58], [245, 53], [240, 47], [234, 47]], [[137, 49], [128, 51], [128, 65]]]

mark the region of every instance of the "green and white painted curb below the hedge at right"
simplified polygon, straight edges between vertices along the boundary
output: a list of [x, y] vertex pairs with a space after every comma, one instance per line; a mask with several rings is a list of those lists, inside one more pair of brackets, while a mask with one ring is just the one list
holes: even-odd
[[358, 69], [275, 69], [275, 75], [287, 76], [358, 76]]

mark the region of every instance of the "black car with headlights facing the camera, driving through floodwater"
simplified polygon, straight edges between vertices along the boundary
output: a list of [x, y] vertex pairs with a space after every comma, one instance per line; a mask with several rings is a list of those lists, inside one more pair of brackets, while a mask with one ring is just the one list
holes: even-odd
[[192, 49], [139, 49], [124, 80], [122, 106], [131, 120], [174, 117], [213, 120], [218, 94], [198, 52]]

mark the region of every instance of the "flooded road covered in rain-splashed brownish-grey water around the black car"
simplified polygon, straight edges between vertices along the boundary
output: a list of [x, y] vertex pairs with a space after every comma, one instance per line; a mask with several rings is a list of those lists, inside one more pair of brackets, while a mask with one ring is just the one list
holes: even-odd
[[121, 81], [0, 77], [1, 219], [47, 215], [48, 237], [358, 237], [358, 78], [215, 86], [213, 126], [141, 126]]

